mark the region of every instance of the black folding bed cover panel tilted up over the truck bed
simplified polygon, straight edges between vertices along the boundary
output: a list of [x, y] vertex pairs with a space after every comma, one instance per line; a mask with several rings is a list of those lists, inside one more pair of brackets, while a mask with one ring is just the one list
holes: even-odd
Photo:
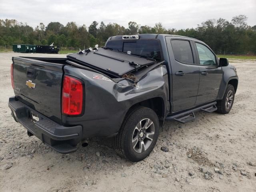
[[116, 78], [120, 78], [124, 74], [135, 71], [135, 68], [138, 70], [143, 66], [149, 66], [160, 62], [104, 48], [85, 52], [84, 54], [70, 54], [67, 58], [68, 60], [84, 64], [85, 66], [115, 76]]

